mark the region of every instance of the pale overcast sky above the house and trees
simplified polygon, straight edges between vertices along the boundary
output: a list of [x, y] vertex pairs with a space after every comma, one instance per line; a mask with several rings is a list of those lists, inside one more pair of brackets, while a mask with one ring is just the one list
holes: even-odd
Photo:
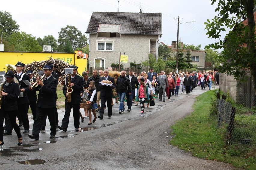
[[[120, 12], [139, 12], [140, 4], [144, 13], [162, 13], [162, 38], [159, 42], [171, 45], [177, 40], [177, 20], [180, 23], [179, 40], [184, 44], [205, 45], [215, 42], [207, 38], [204, 22], [212, 19], [217, 4], [210, 0], [120, 0]], [[20, 31], [43, 38], [72, 25], [85, 34], [93, 11], [117, 12], [117, 0], [12, 0], [2, 1], [0, 10], [12, 15]], [[224, 36], [221, 37], [224, 39]]]

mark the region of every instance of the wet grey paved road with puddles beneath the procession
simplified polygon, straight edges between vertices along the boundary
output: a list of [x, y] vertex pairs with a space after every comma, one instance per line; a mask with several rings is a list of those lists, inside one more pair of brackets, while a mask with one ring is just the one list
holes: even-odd
[[[55, 139], [49, 139], [48, 122], [38, 141], [24, 135], [23, 146], [17, 146], [15, 133], [4, 136], [1, 169], [234, 169], [167, 145], [170, 126], [190, 114], [195, 97], [205, 91], [196, 87], [190, 95], [179, 94], [166, 102], [156, 100], [154, 107], [146, 108], [145, 116], [139, 116], [140, 107], [134, 105], [130, 113], [120, 115], [115, 104], [112, 119], [107, 119], [105, 111], [104, 119], [93, 125], [87, 125], [85, 119], [79, 132], [74, 131], [71, 116], [68, 131], [57, 131]], [[61, 122], [64, 110], [58, 112]]]

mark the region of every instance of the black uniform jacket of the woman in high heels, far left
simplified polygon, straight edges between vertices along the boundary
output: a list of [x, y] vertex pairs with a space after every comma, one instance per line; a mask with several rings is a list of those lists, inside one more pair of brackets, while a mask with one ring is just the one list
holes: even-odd
[[14, 81], [10, 82], [8, 86], [3, 85], [3, 92], [8, 95], [2, 96], [2, 109], [5, 111], [18, 110], [17, 100], [20, 95], [20, 86]]

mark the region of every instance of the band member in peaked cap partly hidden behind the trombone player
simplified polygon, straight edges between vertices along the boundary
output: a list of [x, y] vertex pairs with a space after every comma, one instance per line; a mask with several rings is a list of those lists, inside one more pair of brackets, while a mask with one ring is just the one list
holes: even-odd
[[[30, 83], [33, 85], [36, 82], [36, 79], [33, 78], [33, 73], [31, 70], [28, 70], [26, 72], [27, 75], [29, 75], [29, 81]], [[37, 97], [36, 97], [36, 90], [30, 90], [28, 91], [28, 98], [29, 98], [29, 103], [27, 104], [27, 112], [29, 111], [29, 106], [30, 109], [32, 111], [32, 115], [33, 115], [33, 120], [35, 121], [36, 118], [36, 101], [37, 101]]]

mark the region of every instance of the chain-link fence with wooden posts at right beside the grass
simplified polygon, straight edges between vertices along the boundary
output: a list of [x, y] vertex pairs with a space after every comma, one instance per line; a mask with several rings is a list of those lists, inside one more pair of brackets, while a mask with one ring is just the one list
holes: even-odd
[[[225, 101], [226, 96], [218, 93], [216, 109], [218, 126], [225, 129], [227, 145], [250, 145], [256, 147], [256, 113], [253, 109], [239, 107]], [[253, 99], [253, 98], [252, 98]]]

